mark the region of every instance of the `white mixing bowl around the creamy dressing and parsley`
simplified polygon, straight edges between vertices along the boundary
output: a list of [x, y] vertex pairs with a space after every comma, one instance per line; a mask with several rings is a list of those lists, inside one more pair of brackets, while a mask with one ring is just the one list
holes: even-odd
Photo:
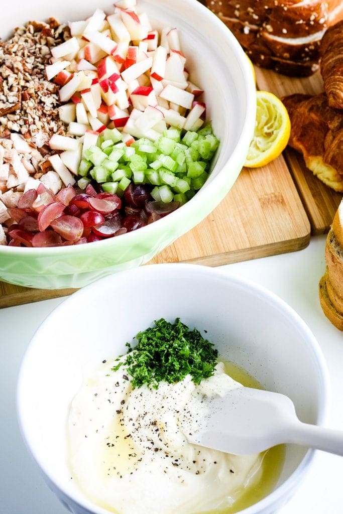
[[[220, 268], [160, 264], [123, 271], [71, 295], [39, 327], [25, 355], [17, 391], [27, 446], [50, 488], [76, 514], [108, 514], [70, 480], [66, 419], [71, 399], [104, 358], [154, 320], [179, 317], [207, 331], [219, 355], [241, 366], [266, 389], [294, 401], [299, 418], [322, 424], [328, 376], [309, 328], [266, 289]], [[273, 492], [241, 514], [271, 514], [295, 492], [314, 451], [286, 447]]]

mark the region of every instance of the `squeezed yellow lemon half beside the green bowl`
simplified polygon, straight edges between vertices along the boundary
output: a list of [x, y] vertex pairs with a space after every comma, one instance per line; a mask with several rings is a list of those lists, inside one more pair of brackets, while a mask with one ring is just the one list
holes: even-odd
[[268, 91], [256, 91], [257, 110], [254, 137], [244, 166], [260, 168], [279, 157], [291, 133], [291, 121], [281, 100]]

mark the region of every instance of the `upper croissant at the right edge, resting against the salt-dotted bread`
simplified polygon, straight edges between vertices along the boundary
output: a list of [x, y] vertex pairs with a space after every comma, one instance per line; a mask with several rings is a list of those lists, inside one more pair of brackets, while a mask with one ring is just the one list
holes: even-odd
[[343, 109], [343, 20], [324, 34], [320, 55], [320, 71], [329, 105]]

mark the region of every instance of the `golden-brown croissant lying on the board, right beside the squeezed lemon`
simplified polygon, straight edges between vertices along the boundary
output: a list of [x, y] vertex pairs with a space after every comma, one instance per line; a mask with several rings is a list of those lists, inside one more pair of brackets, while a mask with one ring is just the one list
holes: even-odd
[[325, 93], [282, 98], [290, 115], [288, 144], [324, 184], [343, 193], [343, 111], [329, 106]]

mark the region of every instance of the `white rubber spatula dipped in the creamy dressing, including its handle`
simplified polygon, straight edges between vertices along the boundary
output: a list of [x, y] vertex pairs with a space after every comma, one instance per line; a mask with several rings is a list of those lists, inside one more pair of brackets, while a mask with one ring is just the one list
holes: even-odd
[[294, 443], [343, 455], [343, 431], [302, 423], [283, 394], [240, 387], [204, 401], [208, 415], [186, 435], [192, 444], [248, 455]]

